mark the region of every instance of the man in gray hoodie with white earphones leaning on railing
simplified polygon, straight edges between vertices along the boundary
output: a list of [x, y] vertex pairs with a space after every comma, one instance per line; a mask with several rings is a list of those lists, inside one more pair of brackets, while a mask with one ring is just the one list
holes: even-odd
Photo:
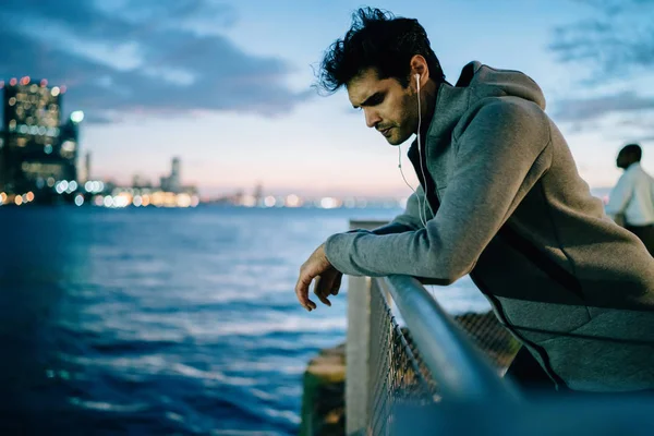
[[470, 274], [522, 342], [521, 364], [552, 387], [654, 389], [654, 262], [591, 195], [530, 77], [471, 62], [452, 86], [416, 20], [362, 9], [319, 84], [346, 86], [389, 144], [416, 134], [421, 186], [390, 225], [334, 234], [311, 255], [295, 287], [305, 308], [314, 279], [329, 305], [342, 274]]

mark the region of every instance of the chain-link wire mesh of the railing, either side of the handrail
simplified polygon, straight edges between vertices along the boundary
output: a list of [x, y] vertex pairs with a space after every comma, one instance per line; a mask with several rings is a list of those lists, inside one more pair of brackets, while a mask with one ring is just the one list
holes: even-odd
[[[389, 435], [397, 405], [438, 402], [438, 379], [424, 364], [411, 334], [393, 315], [385, 290], [372, 280], [368, 434]], [[471, 341], [502, 374], [518, 352], [518, 341], [492, 312], [455, 316]]]

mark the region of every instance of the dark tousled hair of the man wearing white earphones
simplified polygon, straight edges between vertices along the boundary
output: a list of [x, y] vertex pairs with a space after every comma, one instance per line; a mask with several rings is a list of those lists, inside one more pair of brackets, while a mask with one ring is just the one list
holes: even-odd
[[352, 26], [346, 36], [325, 52], [316, 85], [331, 94], [362, 71], [374, 68], [379, 78], [393, 77], [407, 87], [410, 61], [415, 55], [425, 58], [432, 78], [445, 81], [440, 62], [417, 20], [395, 17], [376, 8], [361, 8], [352, 14]]

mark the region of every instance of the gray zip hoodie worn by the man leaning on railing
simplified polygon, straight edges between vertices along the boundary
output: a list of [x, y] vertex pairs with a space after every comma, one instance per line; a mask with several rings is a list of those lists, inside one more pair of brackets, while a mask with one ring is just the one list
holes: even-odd
[[465, 65], [439, 87], [422, 156], [409, 150], [421, 187], [405, 213], [330, 237], [327, 258], [353, 276], [470, 274], [557, 386], [654, 389], [654, 259], [604, 214], [544, 109], [526, 75]]

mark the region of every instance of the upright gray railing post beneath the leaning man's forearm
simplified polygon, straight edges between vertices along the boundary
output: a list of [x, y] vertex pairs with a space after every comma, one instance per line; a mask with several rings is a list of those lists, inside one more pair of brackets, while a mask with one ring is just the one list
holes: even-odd
[[[374, 229], [386, 221], [350, 221], [350, 230]], [[371, 279], [348, 278], [346, 344], [346, 434], [365, 434], [370, 422]]]

